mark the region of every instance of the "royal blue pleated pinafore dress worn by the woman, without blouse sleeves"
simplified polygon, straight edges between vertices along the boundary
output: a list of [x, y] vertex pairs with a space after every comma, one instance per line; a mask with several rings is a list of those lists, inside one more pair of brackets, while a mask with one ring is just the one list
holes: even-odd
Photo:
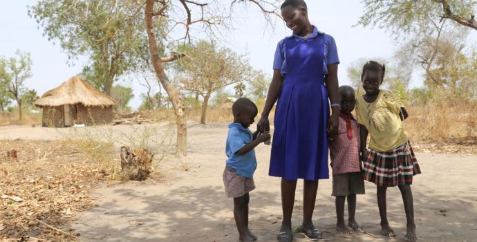
[[275, 111], [270, 176], [328, 178], [326, 126], [330, 109], [324, 83], [325, 40], [321, 32], [310, 39], [283, 39], [287, 72]]

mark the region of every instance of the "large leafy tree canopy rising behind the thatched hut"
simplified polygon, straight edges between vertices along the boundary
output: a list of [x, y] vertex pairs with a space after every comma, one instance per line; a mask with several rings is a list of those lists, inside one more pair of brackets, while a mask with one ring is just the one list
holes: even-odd
[[41, 0], [28, 12], [71, 62], [88, 57], [85, 80], [109, 95], [120, 75], [149, 59], [142, 7], [133, 0]]

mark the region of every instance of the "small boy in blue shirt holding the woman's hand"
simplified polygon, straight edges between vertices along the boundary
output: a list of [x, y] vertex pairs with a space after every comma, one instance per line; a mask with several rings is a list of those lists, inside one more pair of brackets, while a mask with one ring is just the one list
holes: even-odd
[[232, 105], [234, 122], [229, 124], [227, 135], [227, 165], [223, 171], [225, 193], [234, 198], [234, 218], [239, 241], [255, 241], [256, 236], [248, 228], [249, 192], [255, 189], [254, 171], [256, 158], [254, 148], [270, 140], [270, 133], [252, 133], [248, 127], [258, 113], [256, 105], [247, 98], [239, 98]]

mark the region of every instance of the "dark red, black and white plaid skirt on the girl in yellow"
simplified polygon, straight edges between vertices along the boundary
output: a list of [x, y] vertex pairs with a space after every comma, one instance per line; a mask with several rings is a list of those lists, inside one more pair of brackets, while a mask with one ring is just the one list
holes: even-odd
[[421, 173], [409, 142], [387, 152], [368, 150], [363, 171], [364, 180], [382, 187], [411, 185], [413, 176]]

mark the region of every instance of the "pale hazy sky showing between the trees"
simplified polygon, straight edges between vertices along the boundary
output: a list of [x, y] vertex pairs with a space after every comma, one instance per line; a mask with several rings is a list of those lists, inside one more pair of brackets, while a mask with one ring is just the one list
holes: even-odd
[[[228, 1], [228, 0], [223, 0]], [[68, 58], [58, 45], [42, 36], [35, 20], [28, 17], [27, 6], [36, 1], [15, 0], [0, 3], [0, 56], [10, 57], [15, 50], [28, 51], [32, 55], [32, 73], [26, 85], [36, 89], [39, 95], [53, 89], [69, 77], [79, 73], [85, 58], [79, 58], [74, 66], [68, 66]], [[323, 32], [335, 37], [339, 59], [339, 82], [349, 84], [346, 68], [359, 58], [393, 55], [395, 40], [384, 30], [353, 27], [362, 15], [362, 4], [357, 0], [317, 1], [308, 0], [308, 15], [312, 24]], [[225, 34], [225, 46], [238, 53], [248, 53], [252, 66], [272, 73], [272, 62], [277, 42], [290, 35], [291, 30], [279, 22], [274, 32], [265, 31], [265, 21], [255, 6], [238, 10], [240, 17], [234, 24], [234, 30]], [[474, 31], [473, 31], [474, 32]], [[470, 37], [475, 43], [477, 35]], [[420, 86], [420, 78], [414, 78], [411, 86]], [[135, 98], [131, 102], [134, 108], [140, 105], [140, 93], [144, 88], [135, 81], [127, 82], [134, 89]]]

